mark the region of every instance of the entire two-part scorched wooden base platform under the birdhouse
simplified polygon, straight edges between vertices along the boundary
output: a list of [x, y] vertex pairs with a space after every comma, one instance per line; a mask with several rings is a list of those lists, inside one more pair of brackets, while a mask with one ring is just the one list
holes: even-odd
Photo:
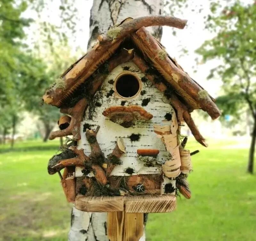
[[76, 196], [75, 207], [84, 212], [165, 213], [176, 208], [174, 195]]

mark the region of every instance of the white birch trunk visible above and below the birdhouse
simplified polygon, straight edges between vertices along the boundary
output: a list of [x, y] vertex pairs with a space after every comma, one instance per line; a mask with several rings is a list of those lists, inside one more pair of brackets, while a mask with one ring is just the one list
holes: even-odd
[[[163, 0], [94, 0], [90, 16], [88, 48], [93, 46], [100, 33], [106, 32], [125, 18], [161, 15], [162, 12]], [[147, 30], [159, 41], [161, 40], [162, 27], [148, 27]], [[107, 213], [87, 213], [73, 207], [68, 240], [108, 241]], [[145, 232], [140, 238], [140, 241], [144, 240]]]

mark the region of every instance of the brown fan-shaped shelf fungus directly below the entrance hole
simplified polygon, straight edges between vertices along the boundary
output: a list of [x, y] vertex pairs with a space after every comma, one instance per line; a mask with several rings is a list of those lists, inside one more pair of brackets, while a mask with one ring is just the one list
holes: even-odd
[[153, 118], [153, 115], [148, 113], [140, 106], [111, 106], [102, 113], [111, 121], [128, 128], [135, 125], [138, 121], [147, 121]]

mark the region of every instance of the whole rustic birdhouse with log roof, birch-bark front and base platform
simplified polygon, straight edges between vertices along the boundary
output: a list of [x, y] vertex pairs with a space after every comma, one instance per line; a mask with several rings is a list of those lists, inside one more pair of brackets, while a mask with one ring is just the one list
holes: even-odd
[[192, 164], [180, 127], [186, 122], [206, 146], [190, 113], [203, 109], [215, 119], [220, 111], [145, 30], [185, 24], [172, 17], [126, 19], [46, 91], [44, 101], [67, 114], [50, 139], [73, 135], [48, 172], [65, 168], [62, 186], [77, 209], [170, 212], [178, 192], [190, 198]]

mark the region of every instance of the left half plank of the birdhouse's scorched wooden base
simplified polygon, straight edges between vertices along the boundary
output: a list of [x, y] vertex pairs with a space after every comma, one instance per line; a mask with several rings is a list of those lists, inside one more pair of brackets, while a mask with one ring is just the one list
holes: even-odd
[[75, 207], [84, 212], [124, 211], [123, 196], [76, 196]]

